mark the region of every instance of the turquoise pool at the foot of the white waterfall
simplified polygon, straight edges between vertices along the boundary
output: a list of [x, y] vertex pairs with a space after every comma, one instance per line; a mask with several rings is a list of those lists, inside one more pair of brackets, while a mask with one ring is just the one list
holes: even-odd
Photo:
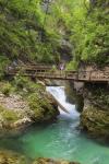
[[21, 140], [27, 156], [78, 161], [82, 164], [109, 164], [109, 148], [86, 139], [75, 129], [76, 122], [58, 120], [51, 126], [33, 129]]

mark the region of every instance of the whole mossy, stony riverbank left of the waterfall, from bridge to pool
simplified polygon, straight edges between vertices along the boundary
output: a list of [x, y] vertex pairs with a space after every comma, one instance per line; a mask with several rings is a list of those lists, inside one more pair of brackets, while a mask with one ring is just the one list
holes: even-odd
[[[17, 77], [0, 82], [0, 131], [21, 131], [35, 122], [48, 122], [59, 115], [53, 97], [43, 84]], [[14, 133], [13, 132], [13, 133]]]

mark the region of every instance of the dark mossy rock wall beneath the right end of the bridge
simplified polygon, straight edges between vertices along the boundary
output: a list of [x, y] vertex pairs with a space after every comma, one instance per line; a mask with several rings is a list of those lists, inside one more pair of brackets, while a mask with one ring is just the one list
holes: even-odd
[[84, 107], [81, 114], [81, 127], [89, 133], [89, 136], [99, 141], [109, 139], [108, 91], [108, 84], [87, 83], [81, 92], [84, 98]]

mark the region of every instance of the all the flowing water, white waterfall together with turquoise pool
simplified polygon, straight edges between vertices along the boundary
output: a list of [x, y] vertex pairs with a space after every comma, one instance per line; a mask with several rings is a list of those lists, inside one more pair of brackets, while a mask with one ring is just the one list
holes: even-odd
[[70, 114], [60, 109], [58, 120], [50, 125], [33, 127], [23, 136], [0, 140], [0, 145], [13, 149], [29, 157], [53, 157], [77, 161], [82, 164], [109, 164], [109, 147], [100, 145], [78, 129], [80, 114], [65, 102], [64, 87], [48, 87]]

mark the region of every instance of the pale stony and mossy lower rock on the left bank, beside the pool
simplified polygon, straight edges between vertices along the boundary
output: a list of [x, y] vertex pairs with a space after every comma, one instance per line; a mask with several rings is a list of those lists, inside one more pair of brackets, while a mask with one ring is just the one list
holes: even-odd
[[58, 105], [46, 91], [23, 97], [0, 94], [0, 131], [20, 131], [34, 122], [49, 121], [59, 114]]

